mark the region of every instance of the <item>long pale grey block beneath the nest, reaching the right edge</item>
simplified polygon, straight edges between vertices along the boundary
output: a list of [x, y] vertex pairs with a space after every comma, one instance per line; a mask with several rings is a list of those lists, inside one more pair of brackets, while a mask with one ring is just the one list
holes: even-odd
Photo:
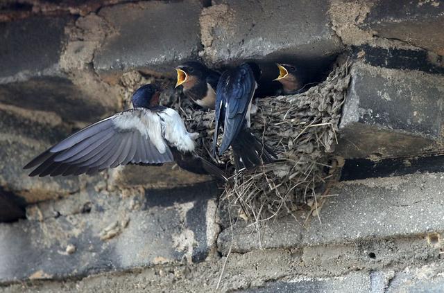
[[[234, 225], [232, 251], [262, 248], [298, 248], [424, 236], [444, 231], [444, 173], [405, 175], [343, 181], [320, 211], [321, 221], [311, 217], [307, 227], [289, 217], [270, 223], [257, 233], [243, 221]], [[296, 213], [300, 222], [305, 217]], [[219, 235], [219, 250], [228, 252], [230, 228]], [[423, 240], [427, 245], [427, 240]]]

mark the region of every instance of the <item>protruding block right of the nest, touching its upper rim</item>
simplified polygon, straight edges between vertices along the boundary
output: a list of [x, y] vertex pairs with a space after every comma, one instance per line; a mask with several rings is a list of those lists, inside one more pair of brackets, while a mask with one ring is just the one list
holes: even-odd
[[380, 159], [433, 150], [443, 139], [442, 85], [443, 76], [355, 63], [337, 153]]

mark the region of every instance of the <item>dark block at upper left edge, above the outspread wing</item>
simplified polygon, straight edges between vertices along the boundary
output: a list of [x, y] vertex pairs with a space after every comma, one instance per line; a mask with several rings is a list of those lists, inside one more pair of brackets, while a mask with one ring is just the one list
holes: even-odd
[[99, 85], [87, 69], [76, 76], [67, 68], [68, 60], [80, 60], [82, 54], [82, 46], [71, 50], [67, 32], [74, 26], [70, 15], [0, 24], [1, 104], [52, 112], [70, 122], [95, 122], [117, 108], [109, 87]]

